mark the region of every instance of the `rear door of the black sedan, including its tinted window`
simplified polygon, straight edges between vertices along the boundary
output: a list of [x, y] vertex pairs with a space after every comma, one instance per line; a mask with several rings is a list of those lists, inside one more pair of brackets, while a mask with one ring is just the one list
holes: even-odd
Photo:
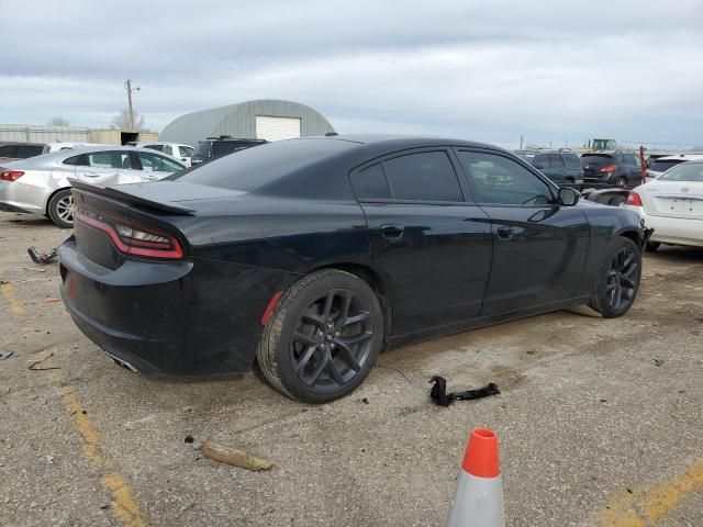
[[373, 269], [388, 284], [393, 336], [477, 317], [490, 270], [488, 215], [443, 148], [405, 150], [350, 175]]

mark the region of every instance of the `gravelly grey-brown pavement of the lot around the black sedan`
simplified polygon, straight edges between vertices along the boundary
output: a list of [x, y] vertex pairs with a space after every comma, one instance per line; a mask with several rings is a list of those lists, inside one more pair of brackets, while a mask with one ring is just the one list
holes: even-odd
[[[57, 266], [26, 257], [68, 234], [0, 213], [2, 526], [442, 526], [477, 426], [500, 438], [509, 526], [703, 525], [703, 250], [647, 255], [624, 318], [559, 312], [405, 346], [356, 393], [306, 406], [254, 373], [116, 367], [53, 301]], [[52, 354], [38, 367], [57, 369], [29, 369]], [[440, 408], [433, 374], [502, 393]], [[187, 435], [275, 468], [214, 462]]]

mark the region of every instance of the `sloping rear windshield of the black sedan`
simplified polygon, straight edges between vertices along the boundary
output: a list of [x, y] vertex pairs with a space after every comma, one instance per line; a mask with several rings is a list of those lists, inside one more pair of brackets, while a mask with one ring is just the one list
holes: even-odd
[[250, 192], [295, 170], [358, 146], [334, 139], [290, 139], [247, 148], [169, 179]]

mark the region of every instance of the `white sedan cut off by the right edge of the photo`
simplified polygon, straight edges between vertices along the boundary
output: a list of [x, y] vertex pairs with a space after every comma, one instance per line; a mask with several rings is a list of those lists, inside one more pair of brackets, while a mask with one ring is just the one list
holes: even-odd
[[703, 247], [703, 160], [682, 162], [637, 187], [625, 206], [655, 229], [649, 250], [660, 244]]

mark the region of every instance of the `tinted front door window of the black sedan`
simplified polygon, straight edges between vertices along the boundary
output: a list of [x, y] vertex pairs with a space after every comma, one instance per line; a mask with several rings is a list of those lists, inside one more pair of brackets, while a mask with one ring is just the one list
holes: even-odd
[[546, 204], [549, 186], [512, 159], [481, 152], [459, 152], [459, 161], [473, 181], [481, 203], [502, 205]]

